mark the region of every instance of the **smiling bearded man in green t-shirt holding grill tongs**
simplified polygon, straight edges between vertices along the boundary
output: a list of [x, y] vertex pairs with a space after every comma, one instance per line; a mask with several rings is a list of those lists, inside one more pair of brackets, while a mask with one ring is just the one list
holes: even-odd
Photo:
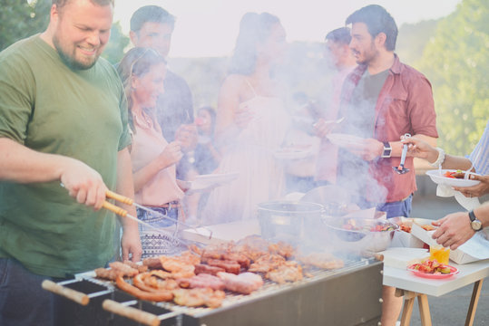
[[[54, 324], [43, 279], [112, 258], [105, 192], [133, 197], [127, 103], [99, 58], [112, 14], [113, 0], [54, 0], [43, 34], [0, 53], [1, 325]], [[121, 222], [122, 258], [139, 261], [137, 224]]]

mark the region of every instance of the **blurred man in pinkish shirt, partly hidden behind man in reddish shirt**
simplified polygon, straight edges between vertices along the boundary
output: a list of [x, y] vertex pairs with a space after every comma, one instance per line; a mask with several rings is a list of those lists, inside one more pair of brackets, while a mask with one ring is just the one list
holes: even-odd
[[337, 127], [332, 121], [338, 119], [341, 89], [348, 73], [357, 67], [357, 61], [349, 47], [351, 31], [348, 27], [340, 27], [329, 32], [325, 40], [324, 57], [335, 70], [335, 74], [331, 79], [331, 96], [322, 101], [323, 105], [326, 105], [321, 114], [322, 118], [314, 125], [316, 135], [321, 139], [316, 171], [318, 186], [335, 184], [337, 181], [337, 146], [331, 144], [326, 135]]

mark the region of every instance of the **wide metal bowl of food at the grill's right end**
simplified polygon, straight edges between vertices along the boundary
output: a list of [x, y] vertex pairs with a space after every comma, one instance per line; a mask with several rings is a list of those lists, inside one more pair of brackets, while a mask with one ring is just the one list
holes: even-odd
[[391, 244], [399, 225], [383, 218], [327, 218], [324, 224], [347, 249], [380, 252]]

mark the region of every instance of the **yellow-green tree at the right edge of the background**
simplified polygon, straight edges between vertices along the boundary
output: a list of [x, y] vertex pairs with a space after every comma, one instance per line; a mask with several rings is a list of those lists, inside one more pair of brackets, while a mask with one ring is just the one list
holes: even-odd
[[433, 84], [439, 144], [474, 148], [489, 119], [489, 4], [464, 0], [437, 25], [419, 68]]

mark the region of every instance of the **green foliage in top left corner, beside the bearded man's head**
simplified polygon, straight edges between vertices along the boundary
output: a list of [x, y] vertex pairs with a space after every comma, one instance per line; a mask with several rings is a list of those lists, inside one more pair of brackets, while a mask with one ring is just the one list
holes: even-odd
[[0, 51], [32, 34], [41, 33], [49, 23], [51, 0], [3, 0], [0, 10]]

